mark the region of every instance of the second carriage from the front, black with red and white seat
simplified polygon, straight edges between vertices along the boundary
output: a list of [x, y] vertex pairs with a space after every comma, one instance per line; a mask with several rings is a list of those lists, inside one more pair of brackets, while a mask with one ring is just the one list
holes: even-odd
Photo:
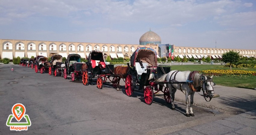
[[87, 69], [84, 70], [82, 74], [82, 81], [84, 85], [89, 85], [89, 83], [92, 82], [92, 78], [95, 78], [95, 76], [99, 77], [102, 74], [102, 71], [105, 69], [105, 59], [103, 52], [97, 50], [91, 51], [87, 58], [86, 65]]

